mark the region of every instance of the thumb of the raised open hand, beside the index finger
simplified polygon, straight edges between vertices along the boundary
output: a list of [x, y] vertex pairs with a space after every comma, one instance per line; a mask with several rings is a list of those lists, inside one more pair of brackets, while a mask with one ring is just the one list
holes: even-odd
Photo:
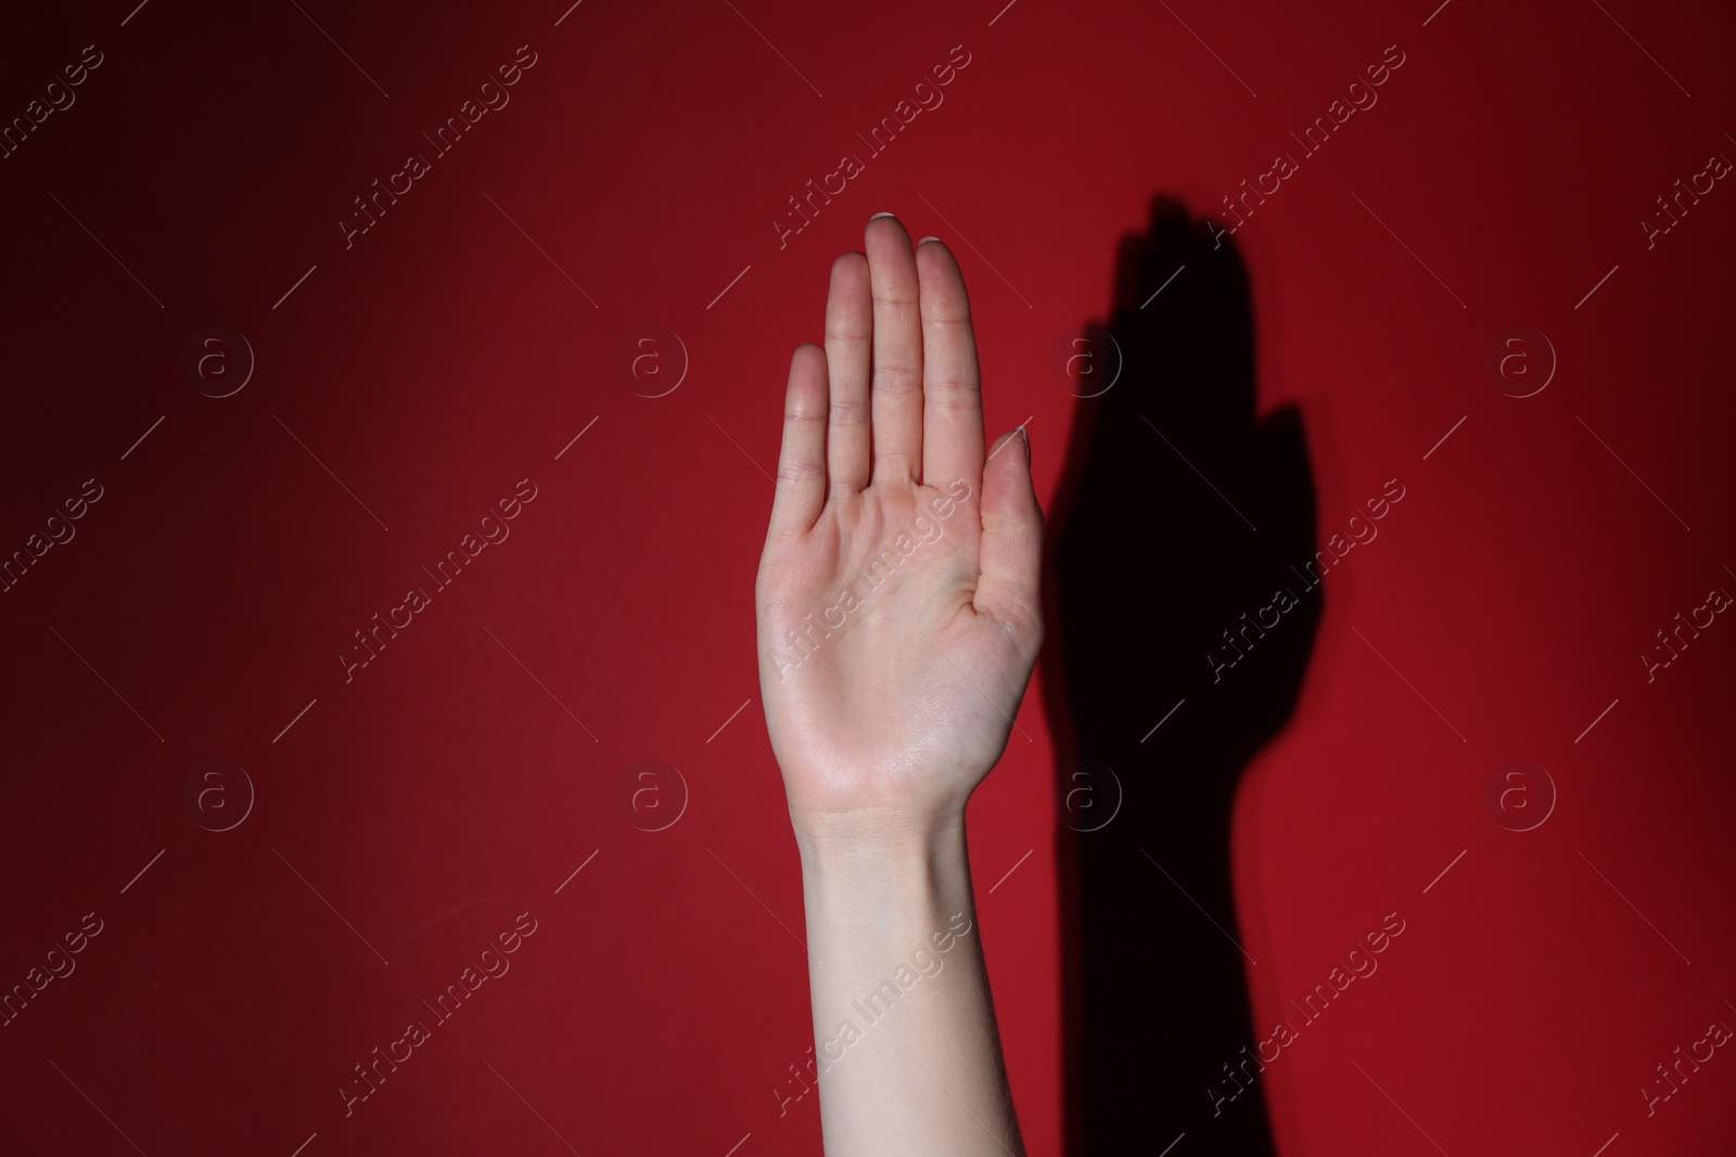
[[1024, 427], [995, 439], [983, 467], [983, 545], [976, 607], [1017, 633], [1042, 633], [1038, 579], [1043, 512], [1031, 484], [1031, 439]]

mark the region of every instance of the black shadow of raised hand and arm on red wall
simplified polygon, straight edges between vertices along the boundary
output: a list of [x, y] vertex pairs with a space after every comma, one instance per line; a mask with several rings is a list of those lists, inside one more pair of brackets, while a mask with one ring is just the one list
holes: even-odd
[[1213, 232], [1153, 199], [1068, 387], [1097, 394], [1078, 402], [1057, 491], [1043, 652], [1073, 829], [1057, 860], [1075, 1155], [1158, 1154], [1182, 1133], [1187, 1154], [1276, 1152], [1231, 812], [1319, 624], [1314, 480], [1297, 409], [1255, 418], [1248, 276]]

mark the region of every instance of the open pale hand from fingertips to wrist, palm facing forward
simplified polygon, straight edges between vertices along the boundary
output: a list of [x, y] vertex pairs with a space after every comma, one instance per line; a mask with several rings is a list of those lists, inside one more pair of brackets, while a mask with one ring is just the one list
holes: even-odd
[[[970, 298], [894, 217], [790, 361], [760, 557], [760, 692], [799, 838], [924, 836], [1007, 746], [1042, 645], [1029, 442], [984, 461]], [[871, 467], [871, 474], [870, 474]]]

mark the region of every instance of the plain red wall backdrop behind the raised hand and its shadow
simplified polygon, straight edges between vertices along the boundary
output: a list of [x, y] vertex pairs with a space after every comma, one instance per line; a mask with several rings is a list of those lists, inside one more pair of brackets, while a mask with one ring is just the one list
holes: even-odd
[[[1255, 1023], [1406, 919], [1267, 1070], [1274, 1124], [1285, 1154], [1727, 1152], [1724, 1049], [1649, 1119], [1637, 1089], [1736, 1025], [1736, 626], [1651, 683], [1637, 656], [1736, 590], [1736, 193], [1653, 248], [1637, 222], [1736, 156], [1733, 17], [1432, 7], [7, 16], [0, 116], [85, 45], [102, 64], [0, 161], [0, 552], [85, 479], [102, 498], [0, 595], [0, 985], [85, 912], [102, 931], [0, 1029], [5, 1147], [816, 1152], [814, 1098], [779, 1119], [769, 1095], [812, 1037], [752, 583], [788, 357], [821, 337], [830, 262], [878, 210], [953, 246], [990, 432], [1031, 416], [1047, 501], [1075, 401], [1045, 364], [1106, 314], [1147, 199], [1220, 210], [1397, 45], [1378, 104], [1236, 234], [1260, 404], [1302, 409], [1319, 536], [1406, 487], [1326, 579], [1300, 708], [1238, 803]], [[345, 248], [352, 198], [519, 45], [536, 64], [510, 104]], [[785, 199], [953, 45], [970, 64], [944, 104], [779, 248]], [[222, 399], [182, 373], [212, 324], [257, 359]], [[1483, 368], [1512, 324], [1559, 357], [1526, 399]], [[687, 352], [663, 397], [616, 371], [639, 326]], [[345, 683], [352, 631], [519, 479], [536, 498], [510, 539]], [[1153, 565], [1187, 553], [1151, 543]], [[1019, 725], [1033, 742], [1016, 732], [977, 793], [970, 847], [1021, 1124], [1057, 1154], [1035, 689]], [[182, 803], [214, 758], [257, 793], [222, 833]], [[689, 791], [658, 833], [615, 803], [648, 758]], [[1483, 803], [1516, 758], [1559, 793], [1528, 833]], [[345, 1117], [352, 1065], [523, 911], [538, 926], [510, 973]], [[1196, 933], [1217, 935], [1174, 935]], [[1187, 999], [1161, 977], [1127, 996]]]

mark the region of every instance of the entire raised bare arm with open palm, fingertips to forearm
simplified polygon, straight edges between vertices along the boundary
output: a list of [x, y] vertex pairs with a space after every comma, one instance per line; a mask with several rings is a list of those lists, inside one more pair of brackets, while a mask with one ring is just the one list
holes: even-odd
[[[790, 361], [755, 583], [832, 1157], [1024, 1152], [963, 817], [1042, 645], [1042, 534], [1028, 435], [984, 448], [958, 262], [932, 238], [913, 250], [896, 217], [871, 219], [865, 252], [832, 265], [825, 345]], [[845, 611], [847, 588], [859, 605]], [[910, 964], [918, 949], [937, 971]], [[887, 980], [891, 1011], [865, 1015]]]

